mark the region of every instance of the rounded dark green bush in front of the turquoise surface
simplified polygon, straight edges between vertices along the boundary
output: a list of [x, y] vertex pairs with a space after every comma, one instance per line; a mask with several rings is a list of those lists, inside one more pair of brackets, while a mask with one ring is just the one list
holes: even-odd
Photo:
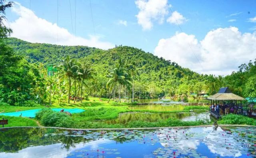
[[56, 112], [50, 108], [44, 108], [36, 113], [36, 119], [40, 120], [42, 125], [48, 127], [66, 127], [71, 128], [74, 124], [73, 119], [63, 112]]

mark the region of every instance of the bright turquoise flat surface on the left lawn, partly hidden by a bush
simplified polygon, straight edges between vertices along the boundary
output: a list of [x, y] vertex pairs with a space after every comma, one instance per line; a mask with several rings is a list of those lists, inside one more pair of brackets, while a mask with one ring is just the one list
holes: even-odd
[[[52, 110], [59, 112], [62, 109], [64, 109], [64, 108], [53, 108]], [[6, 113], [0, 113], [0, 115], [4, 115], [4, 116], [20, 116], [20, 114], [22, 114], [22, 117], [34, 118], [36, 116], [36, 112], [38, 112], [39, 110], [41, 110], [41, 109], [25, 110], [25, 111], [19, 111], [19, 112], [6, 112]], [[64, 109], [64, 112], [70, 112], [71, 114], [80, 113], [80, 112], [84, 112], [84, 111], [85, 110], [78, 109], [78, 108]]]

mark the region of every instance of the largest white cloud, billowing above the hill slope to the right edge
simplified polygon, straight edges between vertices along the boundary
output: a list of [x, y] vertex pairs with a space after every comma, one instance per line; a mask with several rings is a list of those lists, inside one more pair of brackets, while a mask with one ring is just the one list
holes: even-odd
[[176, 33], [160, 39], [154, 54], [199, 73], [226, 75], [254, 59], [255, 48], [256, 32], [242, 34], [229, 27], [208, 32], [200, 42], [194, 35]]

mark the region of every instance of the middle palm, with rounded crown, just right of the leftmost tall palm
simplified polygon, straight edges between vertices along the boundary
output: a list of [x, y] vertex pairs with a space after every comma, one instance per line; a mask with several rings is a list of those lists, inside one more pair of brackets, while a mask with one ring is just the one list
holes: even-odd
[[82, 94], [83, 94], [84, 81], [92, 79], [94, 77], [95, 72], [92, 68], [92, 64], [89, 64], [89, 63], [84, 63], [79, 68], [78, 71], [79, 71], [80, 95], [81, 95], [81, 103], [82, 103]]

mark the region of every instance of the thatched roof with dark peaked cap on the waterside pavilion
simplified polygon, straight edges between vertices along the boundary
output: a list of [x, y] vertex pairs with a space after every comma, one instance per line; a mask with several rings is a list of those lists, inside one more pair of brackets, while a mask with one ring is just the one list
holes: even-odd
[[236, 94], [233, 94], [228, 87], [220, 88], [219, 92], [208, 97], [210, 100], [244, 100]]

